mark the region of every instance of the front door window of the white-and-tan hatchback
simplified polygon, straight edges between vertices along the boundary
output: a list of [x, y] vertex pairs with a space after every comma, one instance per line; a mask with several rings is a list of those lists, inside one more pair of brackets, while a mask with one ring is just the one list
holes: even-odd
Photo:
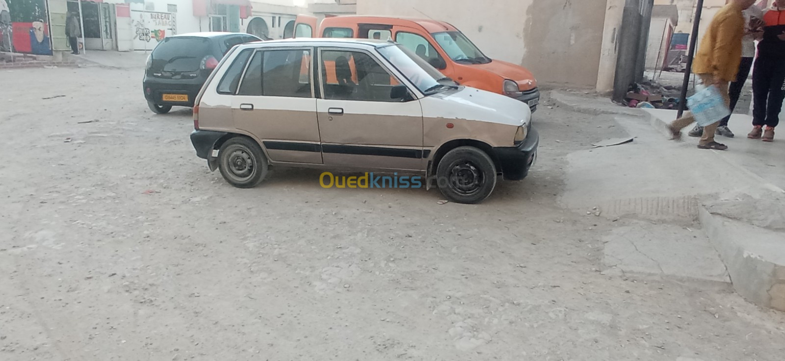
[[324, 99], [400, 102], [390, 92], [400, 83], [365, 52], [323, 50]]

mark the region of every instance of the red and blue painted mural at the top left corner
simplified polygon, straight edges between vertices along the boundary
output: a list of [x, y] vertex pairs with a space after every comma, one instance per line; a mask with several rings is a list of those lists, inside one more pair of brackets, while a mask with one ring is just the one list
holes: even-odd
[[46, 0], [0, 0], [0, 51], [52, 55]]

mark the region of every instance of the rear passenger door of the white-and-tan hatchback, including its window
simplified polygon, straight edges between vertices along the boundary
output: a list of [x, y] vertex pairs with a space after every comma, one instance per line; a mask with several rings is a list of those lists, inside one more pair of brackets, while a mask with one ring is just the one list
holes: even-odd
[[321, 164], [312, 48], [262, 48], [232, 97], [235, 127], [261, 140], [272, 161]]

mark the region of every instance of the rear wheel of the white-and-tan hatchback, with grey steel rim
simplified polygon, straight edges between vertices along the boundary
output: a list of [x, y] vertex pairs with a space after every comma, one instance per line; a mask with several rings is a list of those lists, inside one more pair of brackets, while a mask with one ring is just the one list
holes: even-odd
[[218, 150], [218, 169], [232, 186], [253, 188], [267, 176], [267, 157], [254, 140], [239, 136]]

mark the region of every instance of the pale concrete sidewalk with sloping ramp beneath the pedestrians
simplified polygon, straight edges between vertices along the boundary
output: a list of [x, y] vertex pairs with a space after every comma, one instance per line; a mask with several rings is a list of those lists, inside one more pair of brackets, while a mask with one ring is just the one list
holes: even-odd
[[[597, 107], [611, 111], [604, 102]], [[729, 277], [747, 300], [785, 311], [785, 135], [747, 139], [750, 117], [736, 114], [730, 127], [739, 136], [717, 139], [728, 151], [699, 150], [686, 134], [667, 140], [674, 110], [632, 116], [619, 108], [615, 120], [633, 143], [571, 153], [560, 199], [576, 211], [643, 221], [605, 240], [608, 272]]]

